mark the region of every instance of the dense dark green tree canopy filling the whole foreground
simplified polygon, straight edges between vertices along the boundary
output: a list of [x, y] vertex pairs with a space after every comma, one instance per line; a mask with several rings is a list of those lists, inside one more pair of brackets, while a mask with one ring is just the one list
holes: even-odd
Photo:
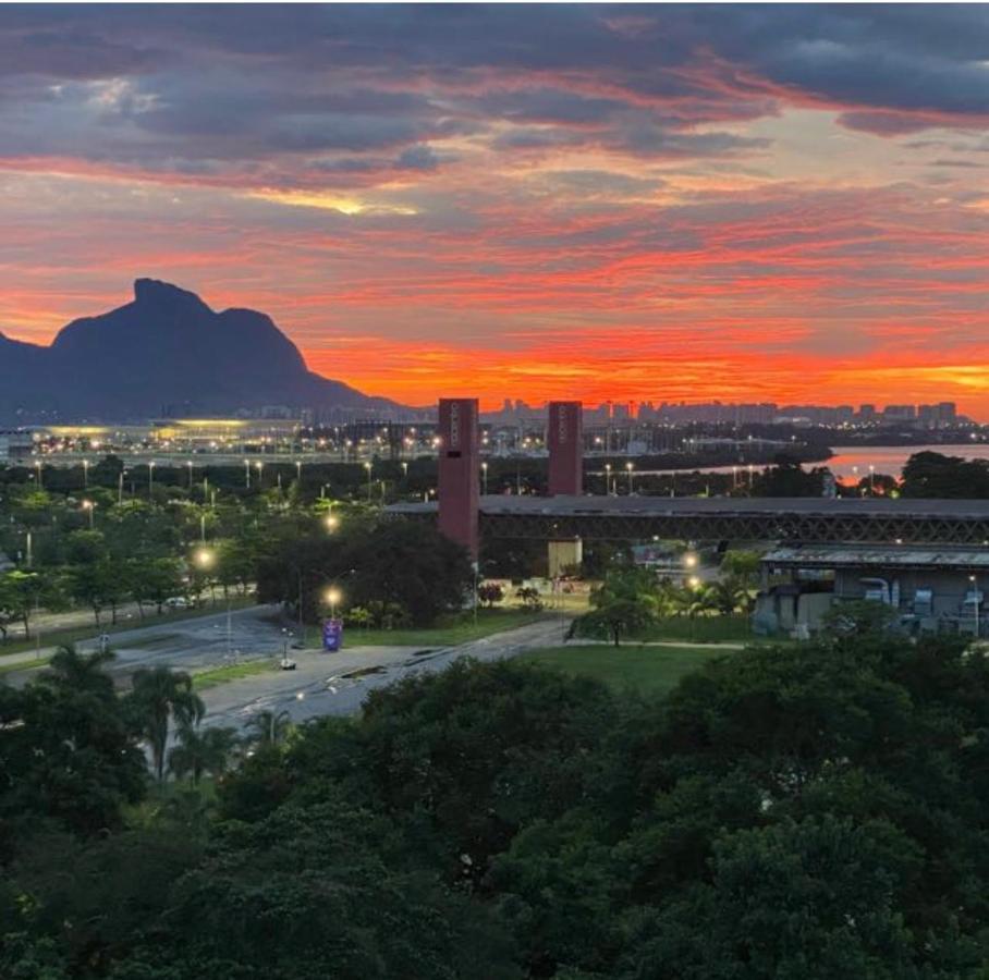
[[986, 976], [989, 664], [867, 612], [663, 700], [463, 661], [271, 715], [211, 807], [133, 809], [141, 730], [66, 654], [0, 688], [0, 975]]

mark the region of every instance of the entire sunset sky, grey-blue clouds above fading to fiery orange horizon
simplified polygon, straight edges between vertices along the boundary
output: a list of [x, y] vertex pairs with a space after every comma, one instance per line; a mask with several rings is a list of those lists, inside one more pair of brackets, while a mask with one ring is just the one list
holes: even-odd
[[3, 7], [0, 332], [137, 277], [371, 394], [989, 420], [989, 7]]

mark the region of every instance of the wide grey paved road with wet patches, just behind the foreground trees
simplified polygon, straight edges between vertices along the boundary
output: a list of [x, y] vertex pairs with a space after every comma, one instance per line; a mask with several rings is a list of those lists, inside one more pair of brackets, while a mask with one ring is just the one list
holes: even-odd
[[259, 711], [286, 711], [294, 722], [326, 714], [354, 714], [368, 691], [378, 687], [413, 674], [442, 670], [460, 657], [502, 660], [536, 647], [559, 645], [569, 620], [540, 620], [459, 647], [430, 650], [353, 647], [339, 653], [295, 651], [294, 671], [257, 674], [204, 691], [205, 724], [240, 728]]

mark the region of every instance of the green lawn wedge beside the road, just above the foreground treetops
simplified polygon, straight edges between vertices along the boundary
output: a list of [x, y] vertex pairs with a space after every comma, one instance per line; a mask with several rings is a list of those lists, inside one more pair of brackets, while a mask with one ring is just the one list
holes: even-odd
[[635, 690], [646, 695], [664, 695], [676, 682], [716, 657], [730, 657], [732, 651], [697, 647], [642, 647], [605, 644], [594, 646], [548, 647], [518, 659], [525, 663], [560, 670], [575, 677], [594, 677], [615, 690]]

